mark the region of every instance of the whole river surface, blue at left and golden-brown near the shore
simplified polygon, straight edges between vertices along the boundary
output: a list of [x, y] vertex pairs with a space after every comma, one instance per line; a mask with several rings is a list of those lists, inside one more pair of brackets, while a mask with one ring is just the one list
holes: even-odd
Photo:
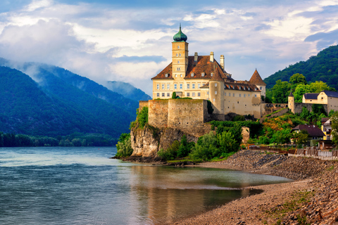
[[0, 148], [0, 224], [161, 224], [288, 182], [112, 160], [113, 147]]

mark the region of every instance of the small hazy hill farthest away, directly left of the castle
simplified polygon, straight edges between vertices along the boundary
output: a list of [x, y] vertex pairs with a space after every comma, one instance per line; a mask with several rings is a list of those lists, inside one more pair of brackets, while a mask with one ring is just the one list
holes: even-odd
[[106, 87], [109, 90], [122, 94], [125, 98], [130, 98], [134, 101], [147, 101], [151, 99], [151, 96], [145, 94], [144, 91], [137, 89], [129, 83], [107, 82]]

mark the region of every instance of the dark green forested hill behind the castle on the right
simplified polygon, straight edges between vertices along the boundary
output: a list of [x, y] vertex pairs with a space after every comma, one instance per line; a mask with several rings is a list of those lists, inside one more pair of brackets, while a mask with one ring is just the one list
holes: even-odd
[[290, 65], [284, 70], [275, 72], [264, 79], [267, 89], [272, 88], [278, 79], [289, 81], [290, 77], [300, 73], [306, 77], [307, 82], [322, 81], [338, 90], [338, 46], [330, 46], [320, 51], [317, 56], [308, 60]]

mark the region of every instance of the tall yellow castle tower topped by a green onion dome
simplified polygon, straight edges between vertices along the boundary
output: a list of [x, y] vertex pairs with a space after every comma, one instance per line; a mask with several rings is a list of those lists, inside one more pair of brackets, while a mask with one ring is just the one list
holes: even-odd
[[188, 38], [181, 31], [181, 25], [173, 39], [173, 79], [175, 82], [183, 82], [188, 68]]

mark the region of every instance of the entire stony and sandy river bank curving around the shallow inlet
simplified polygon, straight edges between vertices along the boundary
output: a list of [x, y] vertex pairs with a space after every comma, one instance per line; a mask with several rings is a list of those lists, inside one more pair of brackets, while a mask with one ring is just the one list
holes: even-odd
[[199, 167], [237, 169], [294, 179], [253, 186], [263, 193], [234, 200], [174, 224], [338, 224], [338, 162], [241, 150]]

